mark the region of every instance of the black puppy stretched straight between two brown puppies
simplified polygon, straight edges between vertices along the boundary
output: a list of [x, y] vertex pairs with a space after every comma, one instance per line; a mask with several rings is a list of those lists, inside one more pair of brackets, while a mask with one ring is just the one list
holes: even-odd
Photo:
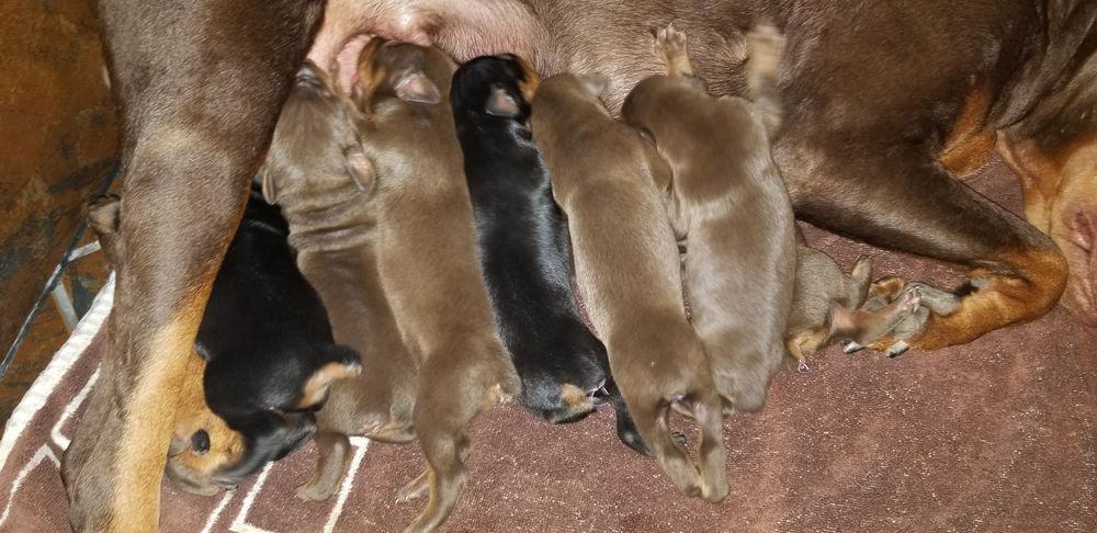
[[507, 54], [464, 64], [450, 93], [496, 324], [527, 408], [554, 423], [578, 420], [604, 385], [618, 435], [651, 455], [610, 376], [606, 347], [579, 315], [567, 223], [528, 125], [536, 83], [532, 67]]

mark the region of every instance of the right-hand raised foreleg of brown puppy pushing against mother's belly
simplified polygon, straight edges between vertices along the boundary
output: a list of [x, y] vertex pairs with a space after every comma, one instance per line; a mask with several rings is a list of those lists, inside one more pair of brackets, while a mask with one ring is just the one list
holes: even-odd
[[750, 100], [761, 115], [770, 139], [777, 137], [784, 118], [781, 105], [781, 56], [784, 35], [770, 23], [762, 22], [747, 33], [747, 87]]

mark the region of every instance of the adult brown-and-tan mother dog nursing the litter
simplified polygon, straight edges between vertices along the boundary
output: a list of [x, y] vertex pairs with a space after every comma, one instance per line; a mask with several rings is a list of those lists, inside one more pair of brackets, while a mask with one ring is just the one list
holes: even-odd
[[[765, 16], [789, 39], [777, 158], [799, 216], [976, 280], [912, 347], [1037, 318], [1067, 286], [1064, 303], [1097, 316], [1092, 0], [331, 0], [324, 10], [321, 0], [100, 1], [123, 110], [126, 251], [105, 378], [65, 457], [78, 530], [156, 528], [184, 365], [278, 110], [306, 55], [352, 63], [366, 35], [459, 60], [517, 53], [544, 76], [601, 72], [615, 112], [659, 71], [652, 27], [688, 31], [711, 89], [738, 93], [742, 29]], [[341, 73], [349, 83], [353, 69]], [[1020, 171], [1039, 229], [954, 179], [995, 145]]]

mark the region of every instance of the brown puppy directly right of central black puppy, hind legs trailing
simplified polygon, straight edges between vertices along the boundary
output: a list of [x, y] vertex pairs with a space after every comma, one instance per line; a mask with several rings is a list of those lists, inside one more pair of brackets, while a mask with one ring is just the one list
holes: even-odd
[[[545, 80], [533, 100], [533, 138], [567, 214], [590, 319], [640, 434], [679, 489], [720, 501], [727, 496], [720, 396], [686, 318], [678, 245], [656, 189], [670, 169], [610, 117], [598, 100], [604, 89], [601, 78]], [[670, 434], [672, 404], [701, 427], [700, 472]]]

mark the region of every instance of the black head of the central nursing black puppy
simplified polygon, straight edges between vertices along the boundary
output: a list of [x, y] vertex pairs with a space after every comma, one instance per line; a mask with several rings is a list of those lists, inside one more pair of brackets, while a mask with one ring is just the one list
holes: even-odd
[[536, 90], [538, 72], [525, 59], [513, 54], [485, 56], [454, 72], [450, 103], [454, 116], [524, 123]]

